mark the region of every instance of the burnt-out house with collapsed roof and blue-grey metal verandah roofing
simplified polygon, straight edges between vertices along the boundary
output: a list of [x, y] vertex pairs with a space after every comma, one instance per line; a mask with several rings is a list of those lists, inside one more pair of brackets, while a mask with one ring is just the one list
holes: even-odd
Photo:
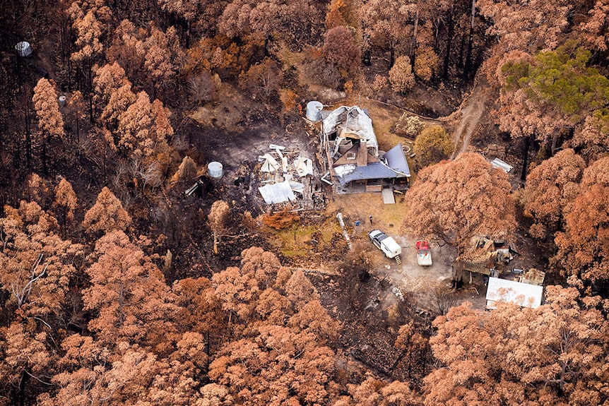
[[321, 124], [321, 145], [339, 193], [406, 189], [410, 168], [401, 144], [379, 151], [372, 119], [360, 107], [338, 107]]

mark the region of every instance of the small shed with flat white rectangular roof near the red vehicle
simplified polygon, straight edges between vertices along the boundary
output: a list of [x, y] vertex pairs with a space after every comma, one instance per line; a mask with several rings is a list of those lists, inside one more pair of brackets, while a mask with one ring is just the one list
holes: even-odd
[[486, 291], [486, 309], [497, 309], [497, 302], [514, 303], [535, 309], [541, 305], [543, 286], [514, 280], [489, 277]]

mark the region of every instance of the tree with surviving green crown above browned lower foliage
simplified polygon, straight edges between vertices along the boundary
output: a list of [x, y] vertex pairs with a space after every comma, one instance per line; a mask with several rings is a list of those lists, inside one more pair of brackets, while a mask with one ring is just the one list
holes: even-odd
[[567, 42], [533, 58], [513, 53], [501, 67], [500, 128], [547, 141], [609, 103], [609, 79], [589, 67], [590, 52]]

